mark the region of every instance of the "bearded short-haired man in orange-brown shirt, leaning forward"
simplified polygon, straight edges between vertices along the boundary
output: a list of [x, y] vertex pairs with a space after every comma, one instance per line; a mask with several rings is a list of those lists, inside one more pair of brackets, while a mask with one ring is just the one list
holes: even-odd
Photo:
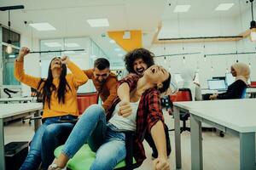
[[118, 79], [115, 74], [109, 70], [108, 59], [99, 58], [94, 62], [94, 68], [90, 70], [85, 70], [86, 76], [92, 80], [96, 91], [100, 95], [103, 104], [102, 107], [105, 111], [108, 106], [112, 104], [113, 99], [117, 95], [117, 82]]

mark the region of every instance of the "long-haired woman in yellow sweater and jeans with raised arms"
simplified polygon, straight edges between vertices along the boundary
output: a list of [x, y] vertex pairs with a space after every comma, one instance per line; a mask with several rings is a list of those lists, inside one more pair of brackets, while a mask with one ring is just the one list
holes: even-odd
[[[15, 78], [43, 94], [43, 124], [33, 136], [31, 147], [20, 170], [47, 169], [54, 160], [55, 147], [64, 143], [79, 116], [77, 90], [88, 77], [67, 56], [55, 57], [49, 64], [48, 77], [32, 77], [23, 70], [29, 48], [21, 48], [15, 61]], [[72, 74], [67, 74], [67, 68]]]

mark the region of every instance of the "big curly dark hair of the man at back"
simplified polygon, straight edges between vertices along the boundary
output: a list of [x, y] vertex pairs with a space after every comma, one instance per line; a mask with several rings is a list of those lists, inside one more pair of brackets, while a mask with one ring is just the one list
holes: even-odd
[[136, 73], [133, 69], [133, 63], [136, 59], [143, 59], [145, 64], [150, 67], [154, 65], [154, 54], [145, 48], [136, 48], [125, 55], [125, 67], [128, 72]]

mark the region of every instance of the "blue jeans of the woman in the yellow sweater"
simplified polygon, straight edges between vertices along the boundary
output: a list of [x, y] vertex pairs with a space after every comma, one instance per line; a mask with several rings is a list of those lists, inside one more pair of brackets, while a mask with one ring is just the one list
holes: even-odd
[[33, 136], [30, 150], [20, 170], [35, 170], [42, 162], [43, 169], [48, 169], [54, 160], [54, 150], [64, 144], [68, 134], [71, 133], [74, 123], [61, 122], [74, 120], [76, 116], [57, 116], [46, 118]]

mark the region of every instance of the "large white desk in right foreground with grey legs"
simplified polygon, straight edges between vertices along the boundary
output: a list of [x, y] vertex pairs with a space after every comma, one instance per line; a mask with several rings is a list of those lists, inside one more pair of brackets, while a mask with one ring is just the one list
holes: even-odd
[[191, 169], [203, 169], [201, 122], [240, 138], [240, 169], [255, 169], [256, 99], [175, 102], [176, 167], [181, 168], [179, 111], [188, 111], [191, 128]]

